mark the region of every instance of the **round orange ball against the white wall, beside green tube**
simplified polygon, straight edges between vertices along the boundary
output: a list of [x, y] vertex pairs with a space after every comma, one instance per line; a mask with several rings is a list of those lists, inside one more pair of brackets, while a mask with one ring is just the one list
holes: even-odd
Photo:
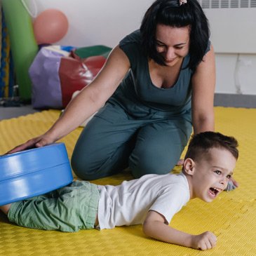
[[33, 27], [34, 36], [38, 44], [55, 43], [65, 36], [69, 22], [62, 11], [48, 9], [36, 17]]

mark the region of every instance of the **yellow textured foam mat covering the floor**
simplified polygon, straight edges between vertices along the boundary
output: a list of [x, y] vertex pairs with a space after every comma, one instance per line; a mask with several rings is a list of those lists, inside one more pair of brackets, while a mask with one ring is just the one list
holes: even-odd
[[[55, 110], [0, 121], [0, 154], [46, 131], [58, 119]], [[215, 107], [215, 128], [236, 137], [240, 156], [234, 172], [240, 186], [223, 192], [213, 203], [190, 201], [175, 215], [171, 225], [191, 234], [210, 230], [217, 246], [200, 251], [155, 241], [144, 236], [140, 225], [76, 234], [17, 227], [0, 213], [0, 255], [256, 255], [256, 109]], [[82, 128], [63, 138], [69, 157]], [[1, 171], [1, 167], [0, 167]], [[180, 168], [175, 168], [175, 172]], [[125, 171], [95, 180], [97, 184], [120, 184], [131, 179]]]

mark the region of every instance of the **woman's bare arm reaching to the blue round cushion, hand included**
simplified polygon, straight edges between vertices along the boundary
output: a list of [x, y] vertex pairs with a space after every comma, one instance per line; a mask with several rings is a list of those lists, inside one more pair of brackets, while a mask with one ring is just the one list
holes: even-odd
[[69, 102], [65, 112], [53, 126], [43, 135], [34, 137], [32, 140], [28, 140], [8, 151], [8, 154], [32, 147], [43, 147], [72, 132], [105, 105], [105, 102], [112, 96], [129, 68], [128, 57], [119, 46], [116, 46], [95, 79]]

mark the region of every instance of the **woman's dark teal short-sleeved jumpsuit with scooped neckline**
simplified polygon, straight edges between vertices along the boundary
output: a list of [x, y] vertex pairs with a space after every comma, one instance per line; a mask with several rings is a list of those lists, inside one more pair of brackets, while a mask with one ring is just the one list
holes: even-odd
[[135, 178], [166, 174], [180, 159], [191, 135], [189, 55], [175, 85], [158, 88], [150, 79], [140, 31], [126, 36], [119, 47], [130, 60], [129, 72], [83, 129], [72, 155], [72, 168], [83, 180], [127, 167]]

